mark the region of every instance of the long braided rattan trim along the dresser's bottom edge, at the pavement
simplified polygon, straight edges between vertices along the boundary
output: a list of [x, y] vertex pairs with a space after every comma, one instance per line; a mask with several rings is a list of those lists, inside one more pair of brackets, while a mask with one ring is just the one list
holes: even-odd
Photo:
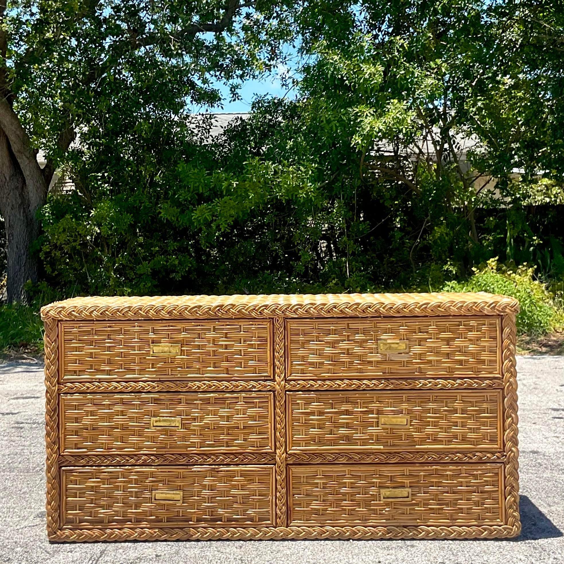
[[483, 525], [481, 527], [194, 527], [63, 530], [51, 534], [50, 539], [74, 542], [214, 539], [499, 539], [518, 534], [518, 528], [508, 525]]

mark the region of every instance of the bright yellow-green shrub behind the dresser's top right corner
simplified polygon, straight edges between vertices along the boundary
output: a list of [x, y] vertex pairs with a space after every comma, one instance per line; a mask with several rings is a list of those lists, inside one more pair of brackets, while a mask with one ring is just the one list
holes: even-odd
[[519, 300], [517, 332], [540, 335], [550, 333], [562, 325], [563, 311], [557, 306], [545, 284], [536, 280], [535, 268], [509, 268], [491, 259], [482, 268], [474, 268], [474, 275], [466, 282], [450, 282], [447, 292], [489, 292]]

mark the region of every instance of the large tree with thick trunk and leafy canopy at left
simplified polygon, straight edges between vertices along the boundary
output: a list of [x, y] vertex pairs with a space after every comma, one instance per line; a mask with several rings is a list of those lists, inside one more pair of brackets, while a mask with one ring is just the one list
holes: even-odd
[[[0, 1], [8, 299], [24, 298], [24, 282], [37, 279], [28, 249], [54, 171], [122, 146], [144, 160], [135, 140], [170, 129], [188, 107], [221, 103], [218, 83], [236, 96], [241, 81], [280, 60], [286, 10], [262, 0]], [[42, 170], [38, 149], [47, 160]]]

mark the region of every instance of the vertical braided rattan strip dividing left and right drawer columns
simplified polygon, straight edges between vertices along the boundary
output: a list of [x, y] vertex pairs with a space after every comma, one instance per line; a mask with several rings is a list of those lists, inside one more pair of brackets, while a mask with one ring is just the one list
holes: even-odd
[[274, 319], [274, 378], [275, 436], [276, 436], [276, 525], [285, 527], [288, 522], [286, 484], [286, 391], [285, 391], [284, 319]]

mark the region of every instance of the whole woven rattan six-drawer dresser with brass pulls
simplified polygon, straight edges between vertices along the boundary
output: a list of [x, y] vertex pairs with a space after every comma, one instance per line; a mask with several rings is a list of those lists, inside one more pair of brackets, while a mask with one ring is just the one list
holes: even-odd
[[54, 541], [519, 534], [513, 298], [74, 298], [45, 321]]

